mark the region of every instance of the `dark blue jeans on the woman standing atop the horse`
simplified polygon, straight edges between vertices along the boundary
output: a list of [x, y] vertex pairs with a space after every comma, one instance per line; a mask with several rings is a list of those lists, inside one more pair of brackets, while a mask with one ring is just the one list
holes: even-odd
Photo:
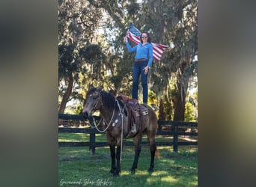
[[[147, 88], [147, 75], [144, 74], [144, 67], [147, 66], [147, 61], [138, 61], [133, 63], [132, 67], [132, 98], [138, 99], [138, 79], [141, 75], [141, 85], [143, 88], [143, 102], [147, 103], [147, 95], [148, 95], [148, 88]], [[147, 72], [148, 74], [148, 72]]]

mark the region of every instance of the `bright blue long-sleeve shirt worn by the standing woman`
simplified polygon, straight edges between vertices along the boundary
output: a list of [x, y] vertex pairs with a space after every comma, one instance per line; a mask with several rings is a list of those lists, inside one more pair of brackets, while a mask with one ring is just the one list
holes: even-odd
[[142, 43], [138, 43], [138, 45], [134, 47], [131, 47], [128, 41], [126, 44], [129, 52], [136, 52], [135, 59], [147, 58], [147, 66], [150, 67], [153, 61], [153, 46], [151, 43], [147, 42], [144, 46], [142, 46]]

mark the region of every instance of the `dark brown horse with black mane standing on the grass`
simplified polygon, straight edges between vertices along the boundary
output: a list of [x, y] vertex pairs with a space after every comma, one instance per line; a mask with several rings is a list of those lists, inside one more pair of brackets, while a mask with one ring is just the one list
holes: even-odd
[[[131, 174], [135, 174], [138, 166], [138, 157], [141, 153], [141, 138], [144, 132], [150, 144], [150, 167], [149, 173], [153, 172], [155, 154], [159, 156], [156, 148], [155, 135], [157, 126], [157, 117], [150, 106], [147, 105], [148, 114], [141, 115], [140, 124], [136, 124], [136, 133], [131, 135], [129, 122], [129, 114], [126, 110], [126, 103], [122, 99], [118, 99], [112, 93], [103, 91], [103, 88], [94, 88], [90, 86], [86, 93], [85, 105], [82, 110], [82, 116], [85, 119], [91, 119], [94, 111], [100, 111], [103, 119], [103, 132], [106, 132], [106, 139], [110, 147], [110, 155], [112, 159], [110, 173], [116, 177], [121, 173], [121, 153], [123, 148], [124, 137], [132, 138], [135, 150], [134, 161]], [[95, 120], [94, 120], [94, 125]], [[130, 136], [130, 137], [129, 137]], [[117, 147], [115, 152], [115, 147]]]

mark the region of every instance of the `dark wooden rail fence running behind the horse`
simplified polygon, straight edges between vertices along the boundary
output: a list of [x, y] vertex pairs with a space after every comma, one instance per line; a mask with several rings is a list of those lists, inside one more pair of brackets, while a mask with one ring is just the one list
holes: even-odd
[[[95, 116], [95, 120], [100, 120], [100, 117]], [[88, 133], [90, 134], [90, 141], [88, 142], [58, 142], [59, 147], [74, 147], [74, 146], [87, 146], [90, 148], [91, 154], [95, 153], [95, 147], [106, 147], [108, 146], [107, 142], [96, 142], [96, 134], [98, 132], [97, 129], [91, 128], [74, 128], [74, 127], [67, 127], [68, 121], [76, 120], [79, 123], [84, 123], [82, 116], [80, 115], [73, 115], [73, 114], [58, 114], [59, 125], [63, 124], [64, 127], [58, 127], [58, 132], [70, 132], [70, 133]], [[171, 130], [163, 130], [170, 129], [169, 127], [172, 126]], [[156, 135], [171, 135], [173, 136], [173, 141], [170, 142], [158, 142], [156, 138], [156, 146], [172, 146], [174, 152], [178, 151], [178, 146], [183, 145], [198, 145], [198, 141], [178, 141], [179, 136], [198, 136], [198, 132], [186, 132], [180, 131], [180, 129], [196, 129], [198, 128], [198, 123], [195, 122], [180, 122], [180, 121], [164, 121], [158, 120], [158, 129]], [[148, 144], [147, 141], [142, 141], [142, 145]], [[124, 141], [124, 146], [133, 146], [132, 142]]]

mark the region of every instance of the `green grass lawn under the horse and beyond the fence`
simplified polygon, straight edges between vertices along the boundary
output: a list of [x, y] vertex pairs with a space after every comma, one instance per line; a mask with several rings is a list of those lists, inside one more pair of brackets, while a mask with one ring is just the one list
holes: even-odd
[[[89, 135], [59, 133], [59, 141], [88, 141]], [[144, 137], [146, 140], [146, 136]], [[163, 139], [163, 140], [162, 140]], [[105, 135], [97, 135], [97, 141], [106, 141]], [[161, 138], [161, 141], [170, 141]], [[129, 140], [130, 141], [130, 140]], [[159, 141], [159, 138], [156, 139]], [[58, 153], [58, 186], [198, 186], [197, 147], [158, 147], [161, 158], [155, 159], [152, 174], [148, 146], [142, 146], [135, 174], [130, 174], [134, 158], [133, 147], [124, 147], [120, 177], [109, 173], [111, 158], [109, 147], [97, 147], [94, 156], [88, 147], [60, 147]]]

